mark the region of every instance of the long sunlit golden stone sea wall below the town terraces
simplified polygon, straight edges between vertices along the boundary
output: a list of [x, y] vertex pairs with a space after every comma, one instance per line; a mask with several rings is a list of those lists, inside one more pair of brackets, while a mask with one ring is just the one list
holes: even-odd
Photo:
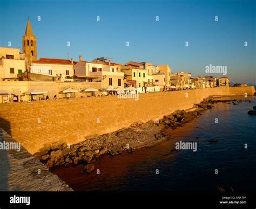
[[110, 133], [137, 121], [163, 118], [189, 109], [212, 95], [253, 95], [254, 87], [221, 87], [117, 96], [0, 104], [0, 127], [31, 154], [46, 143], [75, 144], [93, 135]]

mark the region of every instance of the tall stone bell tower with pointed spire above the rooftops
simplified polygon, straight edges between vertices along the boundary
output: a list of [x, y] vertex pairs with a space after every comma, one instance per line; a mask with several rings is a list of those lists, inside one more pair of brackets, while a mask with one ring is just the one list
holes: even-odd
[[33, 34], [30, 21], [26, 22], [25, 34], [22, 37], [22, 50], [26, 54], [28, 69], [30, 71], [31, 63], [37, 60], [36, 36]]

